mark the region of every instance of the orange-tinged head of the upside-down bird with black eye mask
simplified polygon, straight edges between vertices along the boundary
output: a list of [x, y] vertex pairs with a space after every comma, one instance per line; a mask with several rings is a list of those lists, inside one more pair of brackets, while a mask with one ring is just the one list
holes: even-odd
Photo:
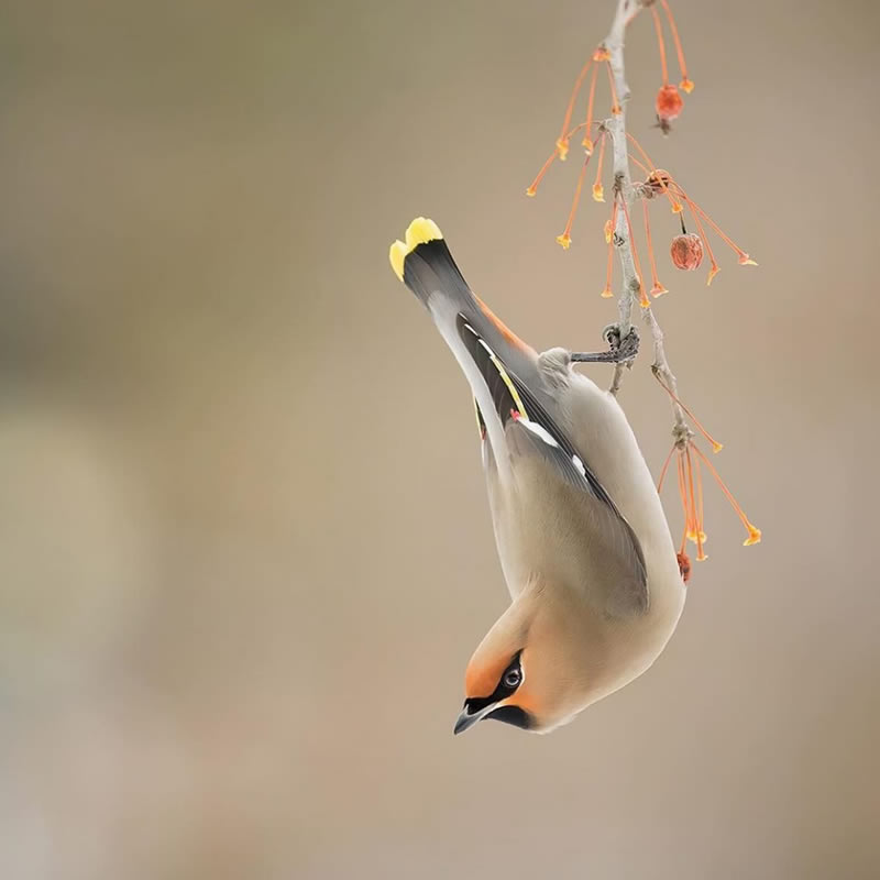
[[590, 683], [580, 674], [583, 658], [574, 656], [583, 645], [566, 630], [547, 602], [515, 602], [468, 664], [454, 732], [488, 718], [547, 733], [591, 702]]

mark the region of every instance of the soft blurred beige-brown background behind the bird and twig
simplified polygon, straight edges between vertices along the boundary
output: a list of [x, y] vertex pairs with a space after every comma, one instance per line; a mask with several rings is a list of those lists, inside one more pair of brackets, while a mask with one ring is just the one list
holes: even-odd
[[708, 488], [646, 675], [455, 738], [507, 594], [388, 244], [433, 217], [535, 346], [601, 345], [605, 211], [563, 252], [576, 155], [524, 190], [612, 0], [2, 6], [0, 876], [878, 876], [875, 4], [674, 0], [666, 140], [630, 29], [630, 130], [760, 263], [718, 243], [707, 289], [653, 215], [681, 394], [763, 542]]

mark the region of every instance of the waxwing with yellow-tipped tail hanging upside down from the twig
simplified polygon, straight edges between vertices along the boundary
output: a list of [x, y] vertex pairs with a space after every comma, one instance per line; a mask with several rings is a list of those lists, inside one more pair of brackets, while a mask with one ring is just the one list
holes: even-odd
[[460, 734], [549, 733], [645, 672], [682, 614], [663, 508], [615, 396], [562, 348], [538, 353], [469, 287], [439, 227], [389, 251], [471, 387], [510, 604], [471, 657]]

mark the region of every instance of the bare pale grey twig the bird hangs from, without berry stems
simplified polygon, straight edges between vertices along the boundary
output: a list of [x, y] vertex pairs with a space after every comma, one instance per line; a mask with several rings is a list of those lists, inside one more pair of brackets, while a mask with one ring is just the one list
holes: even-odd
[[[626, 68], [624, 66], [624, 36], [629, 21], [642, 9], [644, 4], [641, 0], [617, 0], [617, 11], [612, 22], [612, 29], [603, 44], [610, 55], [612, 73], [617, 90], [617, 99], [620, 105], [620, 112], [613, 116], [604, 123], [612, 138], [614, 147], [614, 191], [615, 198], [623, 199], [627, 205], [631, 205], [634, 201], [634, 190], [632, 180], [629, 175], [629, 154], [626, 142], [626, 106], [629, 100], [629, 87], [626, 84]], [[617, 212], [617, 224], [614, 235], [617, 253], [620, 257], [620, 267], [624, 273], [624, 286], [617, 300], [617, 310], [620, 316], [620, 338], [623, 339], [629, 333], [631, 328], [632, 307], [639, 298], [640, 293], [640, 279], [636, 273], [632, 244], [629, 240], [629, 231], [627, 229], [624, 211]], [[653, 341], [653, 364], [651, 369], [660, 376], [663, 384], [666, 384], [672, 394], [678, 396], [679, 388], [675, 375], [672, 373], [669, 361], [667, 360], [663, 331], [660, 329], [660, 324], [650, 306], [647, 308], [639, 306], [639, 308], [641, 309], [645, 323], [651, 331], [651, 339]], [[632, 361], [628, 361], [615, 365], [614, 377], [610, 388], [608, 389], [612, 394], [616, 395], [620, 389], [624, 370], [630, 366], [631, 363]], [[673, 436], [675, 436], [676, 440], [684, 441], [692, 436], [691, 429], [684, 420], [682, 408], [674, 399], [671, 403], [672, 413], [675, 417], [675, 426], [672, 429]]]

